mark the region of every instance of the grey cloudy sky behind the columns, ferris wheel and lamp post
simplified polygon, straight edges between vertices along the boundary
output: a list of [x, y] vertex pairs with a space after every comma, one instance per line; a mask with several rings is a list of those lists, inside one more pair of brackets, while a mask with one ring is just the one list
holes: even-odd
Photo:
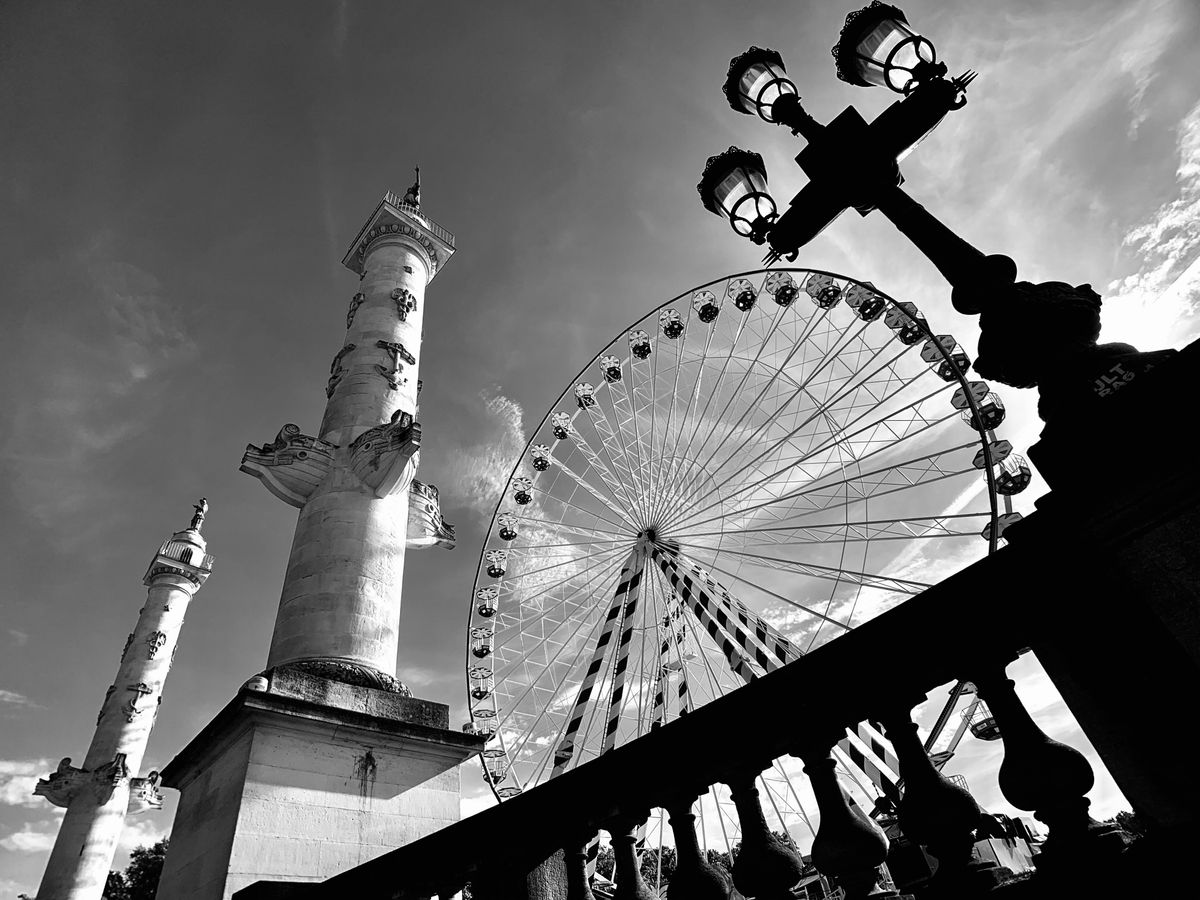
[[[892, 97], [836, 80], [828, 53], [850, 8], [0, 7], [0, 896], [36, 888], [58, 816], [28, 794], [60, 757], [83, 756], [144, 568], [200, 496], [216, 565], [146, 768], [265, 664], [295, 511], [238, 464], [284, 422], [319, 422], [356, 286], [340, 260], [415, 164], [424, 209], [458, 246], [426, 294], [420, 473], [442, 488], [458, 547], [408, 558], [398, 671], [449, 703], [454, 726], [466, 719], [476, 553], [528, 430], [624, 325], [757, 268], [761, 251], [700, 205], [709, 155], [760, 151], [780, 204], [803, 184], [793, 139], [726, 106], [727, 60], [772, 46], [817, 119], [850, 103], [874, 116]], [[910, 193], [1022, 278], [1096, 286], [1105, 338], [1192, 340], [1200, 8], [905, 8], [952, 72], [980, 72], [966, 108], [905, 161]], [[797, 264], [912, 299], [973, 350], [974, 323], [880, 216], [844, 216]], [[1027, 446], [1036, 398], [1006, 400], [1006, 437]], [[1048, 730], [1091, 752], [1021, 666]], [[1002, 809], [995, 762], [978, 742], [960, 754], [977, 797]], [[1121, 808], [1110, 781], [1092, 796], [1099, 812]], [[468, 812], [485, 803], [473, 769], [464, 797]], [[173, 814], [172, 796], [131, 820], [118, 864]]]

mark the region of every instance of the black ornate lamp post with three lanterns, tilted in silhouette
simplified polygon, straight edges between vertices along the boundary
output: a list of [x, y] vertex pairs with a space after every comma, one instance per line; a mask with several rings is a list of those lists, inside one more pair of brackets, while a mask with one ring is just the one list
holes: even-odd
[[1009, 257], [984, 254], [901, 188], [900, 162], [966, 104], [976, 72], [948, 78], [932, 42], [880, 0], [846, 17], [833, 55], [841, 80], [902, 96], [874, 121], [846, 107], [822, 125], [800, 104], [782, 56], [751, 47], [730, 62], [725, 96], [736, 112], [781, 125], [806, 142], [796, 162], [809, 181], [780, 214], [767, 192], [762, 157], [730, 148], [709, 157], [697, 185], [709, 211], [768, 245], [768, 264], [794, 260], [847, 209], [862, 216], [882, 212], [950, 283], [954, 307], [980, 317], [976, 371], [1015, 388], [1038, 386], [1038, 413], [1048, 422], [1087, 415], [1094, 402], [1114, 394], [1114, 377], [1130, 380], [1159, 361], [1163, 353], [1097, 346], [1100, 298], [1090, 284], [1018, 282]]

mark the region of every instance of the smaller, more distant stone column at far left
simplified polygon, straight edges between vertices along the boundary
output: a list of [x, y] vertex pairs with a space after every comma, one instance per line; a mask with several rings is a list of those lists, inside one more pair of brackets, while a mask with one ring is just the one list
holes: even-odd
[[65, 758], [35, 788], [67, 810], [37, 892], [40, 900], [98, 900], [126, 812], [162, 806], [158, 773], [149, 778], [136, 774], [162, 702], [187, 605], [212, 570], [200, 536], [206, 510], [202, 500], [192, 526], [172, 535], [146, 571], [146, 604], [125, 642], [116, 680], [104, 695], [83, 767]]

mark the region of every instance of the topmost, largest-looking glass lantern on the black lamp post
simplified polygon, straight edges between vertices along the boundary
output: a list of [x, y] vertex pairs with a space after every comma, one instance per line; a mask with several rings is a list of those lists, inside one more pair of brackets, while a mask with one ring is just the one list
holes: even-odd
[[880, 0], [846, 17], [833, 55], [844, 82], [864, 88], [878, 85], [898, 94], [908, 94], [926, 78], [944, 74], [932, 42], [908, 26], [904, 12]]

